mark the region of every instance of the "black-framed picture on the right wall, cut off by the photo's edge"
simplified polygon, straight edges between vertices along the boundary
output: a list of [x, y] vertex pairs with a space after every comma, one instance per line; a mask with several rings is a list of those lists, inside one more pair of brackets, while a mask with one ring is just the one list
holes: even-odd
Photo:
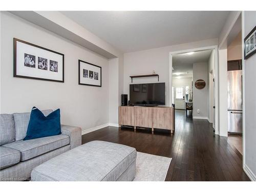
[[[252, 35], [253, 34], [253, 35]], [[252, 36], [251, 36], [252, 35]], [[249, 57], [251, 57], [252, 55], [254, 55], [256, 53], [256, 47], [255, 47], [255, 37], [256, 37], [256, 26], [250, 31], [250, 33], [244, 38], [244, 59], [248, 59]], [[251, 38], [253, 38], [253, 44], [254, 45], [250, 45], [251, 43]], [[249, 40], [249, 45], [246, 45], [246, 43]], [[246, 47], [247, 46], [247, 47]], [[248, 49], [247, 49], [248, 48]], [[251, 51], [253, 50], [253, 51]], [[248, 53], [248, 54], [247, 54]]]

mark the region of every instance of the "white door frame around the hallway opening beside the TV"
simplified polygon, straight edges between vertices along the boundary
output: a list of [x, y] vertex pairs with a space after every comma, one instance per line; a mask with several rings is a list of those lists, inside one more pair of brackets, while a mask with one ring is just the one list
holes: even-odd
[[[218, 62], [218, 45], [200, 47], [194, 49], [184, 49], [179, 51], [169, 52], [169, 90], [172, 90], [173, 82], [173, 54], [195, 52], [195, 51], [204, 51], [208, 49], [213, 49], [215, 51], [215, 61], [214, 61], [214, 80], [215, 80], [215, 134], [219, 135], [219, 62]], [[169, 103], [172, 105], [172, 91], [169, 91]]]

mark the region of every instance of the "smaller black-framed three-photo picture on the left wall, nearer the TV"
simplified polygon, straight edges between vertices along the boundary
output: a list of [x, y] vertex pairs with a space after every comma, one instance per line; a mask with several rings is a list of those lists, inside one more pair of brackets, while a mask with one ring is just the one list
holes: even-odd
[[78, 84], [101, 87], [101, 67], [79, 59]]

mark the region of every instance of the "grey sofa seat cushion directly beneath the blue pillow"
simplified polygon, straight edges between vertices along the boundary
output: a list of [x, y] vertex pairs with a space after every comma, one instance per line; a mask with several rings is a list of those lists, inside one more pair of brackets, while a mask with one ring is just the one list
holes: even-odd
[[19, 140], [12, 143], [5, 144], [3, 146], [14, 148], [20, 151], [20, 161], [26, 161], [33, 157], [45, 154], [56, 148], [68, 145], [70, 138], [67, 135], [55, 135], [50, 137], [42, 137], [31, 140]]

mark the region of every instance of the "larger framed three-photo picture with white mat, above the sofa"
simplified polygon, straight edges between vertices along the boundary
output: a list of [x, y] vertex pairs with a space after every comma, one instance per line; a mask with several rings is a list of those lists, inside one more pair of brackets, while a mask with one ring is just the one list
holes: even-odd
[[13, 38], [13, 76], [64, 82], [64, 54]]

